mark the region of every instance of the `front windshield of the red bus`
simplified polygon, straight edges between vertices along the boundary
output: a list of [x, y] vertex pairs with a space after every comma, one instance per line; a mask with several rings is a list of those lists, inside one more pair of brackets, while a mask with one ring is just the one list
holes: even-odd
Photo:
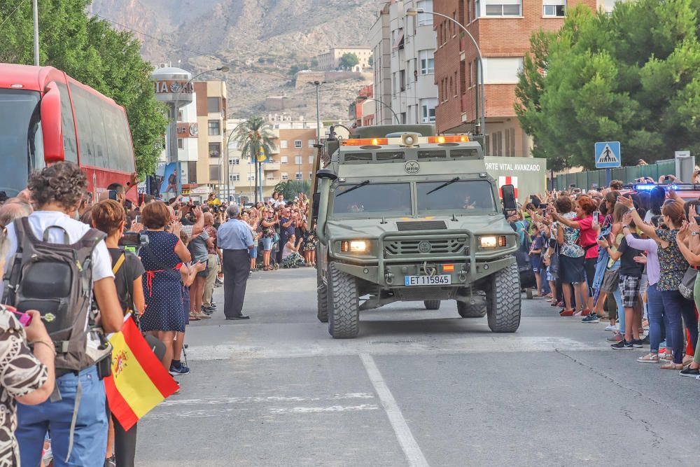
[[27, 187], [29, 172], [43, 167], [39, 93], [0, 89], [0, 109], [0, 192], [13, 197]]

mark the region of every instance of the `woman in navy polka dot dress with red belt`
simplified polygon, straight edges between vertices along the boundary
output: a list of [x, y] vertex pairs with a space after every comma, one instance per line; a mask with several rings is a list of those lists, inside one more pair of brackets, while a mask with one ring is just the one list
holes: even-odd
[[141, 211], [141, 222], [149, 240], [148, 246], [139, 252], [146, 268], [143, 279], [146, 312], [141, 315], [141, 330], [155, 335], [165, 344], [163, 365], [167, 369], [173, 358], [175, 333], [185, 331], [179, 269], [182, 263], [191, 260], [180, 237], [165, 232], [169, 221], [170, 211], [164, 202], [151, 202]]

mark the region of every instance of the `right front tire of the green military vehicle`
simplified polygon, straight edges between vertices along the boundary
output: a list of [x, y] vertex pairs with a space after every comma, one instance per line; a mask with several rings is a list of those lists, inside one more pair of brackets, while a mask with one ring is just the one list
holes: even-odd
[[520, 277], [513, 263], [491, 276], [486, 292], [489, 328], [494, 333], [514, 333], [520, 326]]

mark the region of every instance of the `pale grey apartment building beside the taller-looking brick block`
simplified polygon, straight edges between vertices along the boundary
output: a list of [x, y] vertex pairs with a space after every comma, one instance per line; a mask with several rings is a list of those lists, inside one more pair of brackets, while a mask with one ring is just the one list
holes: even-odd
[[370, 29], [377, 123], [435, 122], [433, 15], [407, 18], [408, 8], [433, 11], [433, 0], [388, 1]]

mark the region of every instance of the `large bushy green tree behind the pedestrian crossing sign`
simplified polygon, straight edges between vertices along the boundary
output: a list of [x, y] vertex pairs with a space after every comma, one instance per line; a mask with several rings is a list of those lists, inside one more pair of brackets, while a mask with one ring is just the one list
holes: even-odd
[[607, 15], [580, 6], [556, 36], [534, 34], [515, 106], [534, 155], [590, 168], [596, 141], [621, 141], [628, 165], [700, 151], [699, 8], [638, 0]]

